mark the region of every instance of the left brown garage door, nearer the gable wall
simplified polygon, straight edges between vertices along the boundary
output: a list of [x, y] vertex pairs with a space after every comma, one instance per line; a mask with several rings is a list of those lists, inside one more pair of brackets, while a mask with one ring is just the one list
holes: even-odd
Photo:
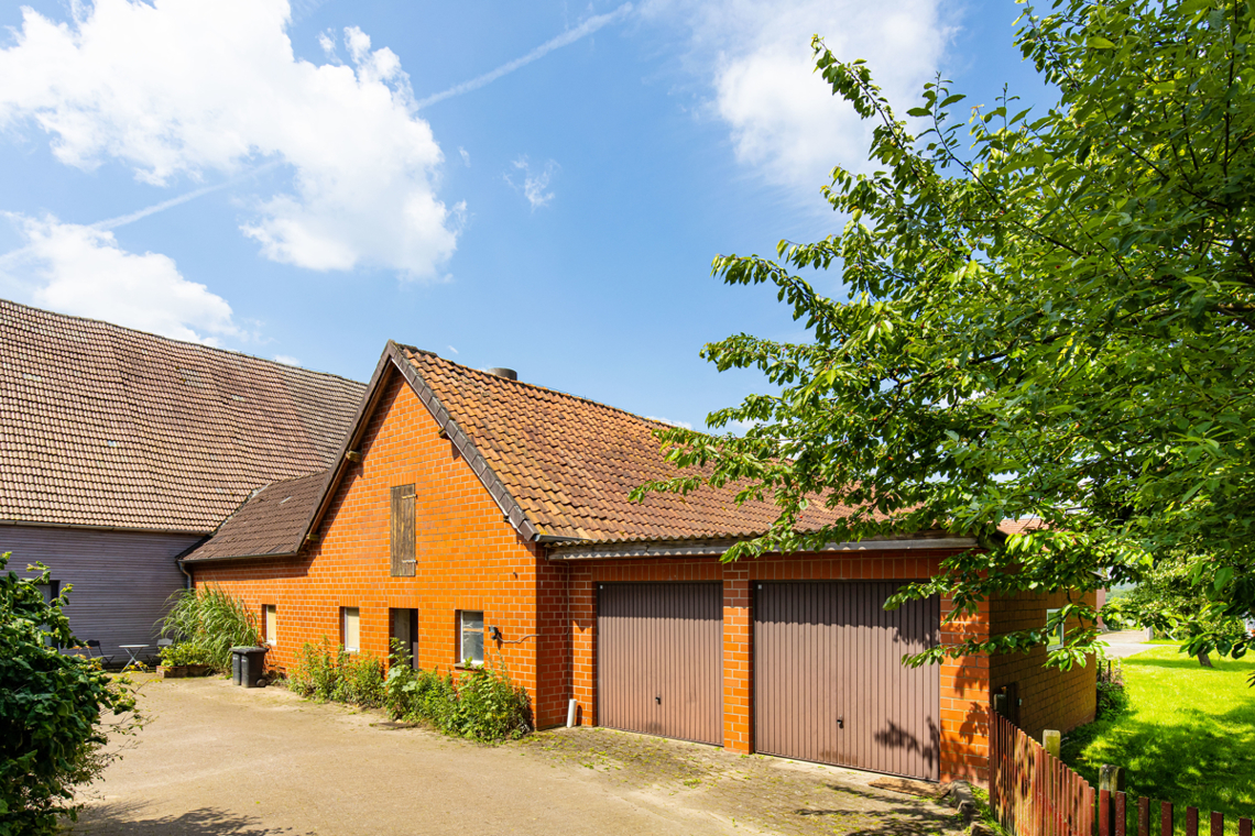
[[597, 719], [602, 726], [723, 742], [720, 584], [602, 584]]

